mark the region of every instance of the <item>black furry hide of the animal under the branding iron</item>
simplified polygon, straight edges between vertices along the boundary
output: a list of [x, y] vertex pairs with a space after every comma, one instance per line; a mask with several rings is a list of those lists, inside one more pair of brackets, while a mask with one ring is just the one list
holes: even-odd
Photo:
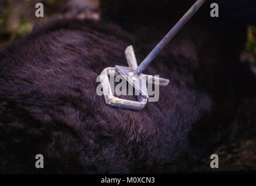
[[[141, 62], [164, 28], [139, 37], [106, 22], [59, 19], [9, 45], [0, 53], [0, 173], [188, 171], [228, 137], [248, 93], [247, 85], [237, 92], [240, 81], [253, 77], [238, 62], [240, 44], [229, 50], [225, 32], [192, 28], [146, 70], [170, 84], [140, 112], [107, 106], [96, 77], [127, 66], [128, 45]], [[34, 166], [38, 153], [44, 169]]]

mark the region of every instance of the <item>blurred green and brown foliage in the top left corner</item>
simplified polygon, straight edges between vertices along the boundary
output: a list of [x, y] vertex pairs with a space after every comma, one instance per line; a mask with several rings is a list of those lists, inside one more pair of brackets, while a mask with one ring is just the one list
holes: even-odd
[[[45, 17], [37, 18], [34, 16], [36, 10], [35, 5], [38, 2], [44, 4]], [[21, 35], [29, 33], [33, 25], [47, 20], [55, 12], [58, 12], [63, 1], [57, 0], [0, 0], [0, 49], [19, 38]], [[31, 11], [27, 11], [30, 9]]]

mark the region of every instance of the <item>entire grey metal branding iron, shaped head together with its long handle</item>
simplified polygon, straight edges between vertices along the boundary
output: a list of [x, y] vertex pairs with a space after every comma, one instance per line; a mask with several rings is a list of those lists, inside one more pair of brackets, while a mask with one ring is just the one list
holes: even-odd
[[[191, 6], [187, 13], [178, 21], [178, 23], [167, 33], [159, 44], [149, 53], [149, 55], [143, 60], [141, 65], [138, 66], [134, 49], [132, 46], [125, 49], [125, 56], [129, 67], [125, 66], [115, 66], [107, 67], [100, 74], [100, 82], [103, 88], [103, 94], [107, 105], [111, 105], [121, 109], [131, 109], [131, 110], [141, 110], [146, 106], [148, 102], [148, 90], [146, 87], [146, 80], [151, 78], [153, 83], [166, 86], [169, 84], [169, 80], [165, 78], [159, 78], [154, 76], [149, 76], [142, 74], [142, 71], [149, 66], [153, 59], [158, 55], [160, 51], [166, 46], [166, 44], [180, 31], [180, 29], [185, 25], [185, 23], [190, 20], [190, 18], [197, 12], [197, 10], [204, 4], [206, 0], [198, 0]], [[138, 92], [138, 101], [130, 101], [127, 99], [120, 99], [113, 95], [111, 90], [111, 85], [108, 76], [116, 76], [121, 74], [125, 80], [134, 87], [135, 91]]]

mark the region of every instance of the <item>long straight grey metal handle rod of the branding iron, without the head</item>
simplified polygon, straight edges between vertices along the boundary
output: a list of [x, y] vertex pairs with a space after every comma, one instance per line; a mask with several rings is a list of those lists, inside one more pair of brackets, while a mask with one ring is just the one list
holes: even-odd
[[180, 29], [190, 20], [190, 18], [197, 12], [197, 10], [204, 4], [206, 0], [197, 0], [187, 13], [171, 28], [168, 34], [156, 45], [156, 47], [149, 53], [149, 55], [143, 60], [141, 65], [134, 71], [135, 75], [139, 75], [147, 66], [156, 58], [158, 53], [166, 46], [166, 44], [180, 31]]

